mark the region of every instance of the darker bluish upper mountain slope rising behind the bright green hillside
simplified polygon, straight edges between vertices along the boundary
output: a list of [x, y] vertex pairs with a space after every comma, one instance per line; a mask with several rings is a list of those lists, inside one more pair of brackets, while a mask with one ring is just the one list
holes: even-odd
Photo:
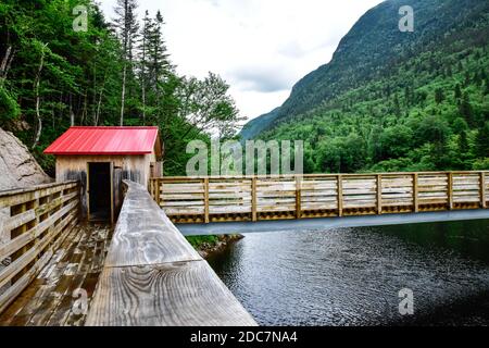
[[[414, 9], [414, 33], [399, 30], [399, 9]], [[249, 122], [241, 136], [250, 139], [293, 115], [303, 114], [348, 90], [372, 82], [402, 62], [428, 51], [457, 28], [486, 21], [489, 2], [480, 0], [390, 0], [367, 11], [342, 38], [331, 61], [304, 76], [287, 101]], [[472, 39], [487, 40], [487, 26]], [[474, 30], [466, 30], [466, 34]], [[484, 37], [484, 35], [486, 37]]]

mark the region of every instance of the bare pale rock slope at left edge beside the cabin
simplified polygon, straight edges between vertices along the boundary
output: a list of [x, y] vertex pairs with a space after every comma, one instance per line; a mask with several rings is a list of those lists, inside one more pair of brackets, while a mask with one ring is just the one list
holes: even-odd
[[0, 191], [50, 183], [28, 149], [0, 128]]

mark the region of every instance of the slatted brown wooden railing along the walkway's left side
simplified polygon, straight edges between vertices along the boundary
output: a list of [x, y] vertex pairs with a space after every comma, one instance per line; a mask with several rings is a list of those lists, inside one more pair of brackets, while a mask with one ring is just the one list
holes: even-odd
[[76, 182], [0, 192], [0, 312], [51, 259], [78, 206]]

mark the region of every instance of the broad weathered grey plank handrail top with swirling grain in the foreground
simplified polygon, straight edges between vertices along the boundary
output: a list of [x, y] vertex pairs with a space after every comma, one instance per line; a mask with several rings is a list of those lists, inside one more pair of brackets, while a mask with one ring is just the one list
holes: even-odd
[[256, 325], [141, 185], [128, 191], [88, 326]]

